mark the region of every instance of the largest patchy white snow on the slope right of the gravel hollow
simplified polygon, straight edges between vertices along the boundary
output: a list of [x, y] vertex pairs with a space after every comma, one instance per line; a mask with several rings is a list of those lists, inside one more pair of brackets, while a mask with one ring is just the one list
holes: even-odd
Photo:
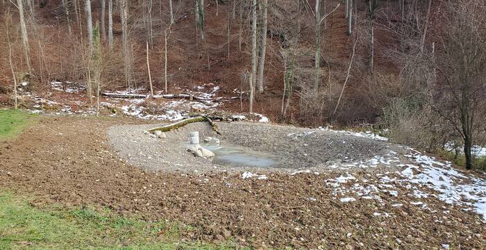
[[[330, 178], [326, 183], [334, 189], [336, 197], [343, 202], [353, 201], [351, 195], [359, 199], [376, 199], [382, 205], [383, 197], [398, 197], [403, 195], [415, 199], [410, 204], [428, 208], [420, 199], [437, 197], [447, 204], [462, 206], [463, 210], [474, 210], [486, 220], [486, 180], [464, 174], [451, 167], [451, 163], [442, 163], [433, 157], [425, 156], [414, 149], [406, 155], [408, 163], [401, 163], [399, 172], [366, 174], [353, 176], [346, 174], [337, 178]], [[393, 153], [391, 153], [393, 155]], [[398, 159], [398, 158], [397, 158]], [[399, 163], [396, 160], [395, 163]], [[373, 163], [355, 163], [360, 167], [373, 167]], [[395, 203], [392, 207], [403, 206]]]

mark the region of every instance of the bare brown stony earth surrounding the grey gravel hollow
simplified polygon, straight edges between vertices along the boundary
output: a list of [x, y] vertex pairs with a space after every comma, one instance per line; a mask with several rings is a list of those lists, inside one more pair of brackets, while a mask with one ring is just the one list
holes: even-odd
[[[336, 174], [187, 175], [144, 172], [110, 149], [110, 126], [120, 119], [42, 117], [15, 140], [0, 142], [0, 187], [35, 194], [35, 206], [108, 207], [121, 215], [169, 219], [196, 228], [190, 240], [233, 239], [255, 248], [485, 249], [480, 217], [428, 199], [432, 213], [380, 194], [375, 200], [342, 203], [326, 179]], [[370, 178], [374, 178], [371, 176]], [[392, 202], [403, 206], [392, 208]], [[446, 206], [446, 207], [444, 207]], [[374, 217], [386, 210], [389, 217]], [[436, 223], [436, 219], [445, 223]]]

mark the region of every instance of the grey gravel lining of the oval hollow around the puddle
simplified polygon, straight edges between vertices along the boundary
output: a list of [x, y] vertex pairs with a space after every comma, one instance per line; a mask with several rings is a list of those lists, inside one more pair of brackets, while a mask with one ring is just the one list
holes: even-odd
[[[112, 148], [128, 163], [151, 171], [168, 172], [296, 172], [338, 170], [349, 163], [359, 163], [390, 151], [403, 151], [398, 145], [333, 133], [311, 128], [298, 128], [255, 122], [218, 122], [217, 135], [206, 123], [187, 124], [166, 133], [159, 139], [143, 132], [164, 124], [123, 125], [108, 129]], [[216, 163], [211, 159], [196, 158], [186, 151], [191, 131], [199, 131], [202, 141], [206, 136], [218, 138], [221, 146], [237, 146], [276, 160], [272, 167], [248, 167], [244, 165]], [[383, 165], [393, 171], [393, 165]], [[358, 169], [356, 167], [355, 169]], [[381, 169], [380, 169], [381, 170]], [[370, 169], [369, 171], [377, 171]]]

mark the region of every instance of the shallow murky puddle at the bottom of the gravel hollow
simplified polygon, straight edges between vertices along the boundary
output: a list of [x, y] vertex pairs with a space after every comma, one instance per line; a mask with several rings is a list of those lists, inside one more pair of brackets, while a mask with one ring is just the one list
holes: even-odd
[[210, 144], [202, 144], [202, 146], [215, 153], [213, 163], [246, 167], [276, 167], [278, 165], [276, 160], [243, 147]]

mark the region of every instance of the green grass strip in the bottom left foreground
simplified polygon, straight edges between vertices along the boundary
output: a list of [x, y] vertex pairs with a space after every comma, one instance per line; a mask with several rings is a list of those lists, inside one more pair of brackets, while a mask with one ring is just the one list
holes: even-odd
[[32, 197], [0, 190], [0, 249], [234, 249], [221, 244], [185, 242], [194, 228], [147, 222], [110, 210], [62, 206], [36, 208]]

